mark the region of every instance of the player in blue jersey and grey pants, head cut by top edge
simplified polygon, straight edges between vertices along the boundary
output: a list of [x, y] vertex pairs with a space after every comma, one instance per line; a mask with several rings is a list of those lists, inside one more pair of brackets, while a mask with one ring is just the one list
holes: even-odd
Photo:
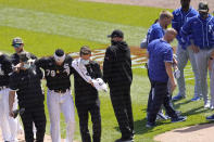
[[181, 46], [181, 36], [179, 34], [181, 26], [191, 17], [198, 15], [198, 11], [190, 7], [191, 0], [180, 0], [181, 8], [175, 10], [173, 12], [174, 18], [172, 22], [173, 28], [175, 28], [178, 31], [177, 35], [177, 66], [180, 70], [180, 77], [177, 79], [178, 83], [178, 94], [173, 98], [173, 101], [177, 101], [180, 99], [186, 98], [186, 87], [185, 87], [185, 77], [184, 77], [184, 68], [187, 65], [188, 60], [190, 60], [192, 70], [194, 73], [194, 95], [191, 99], [191, 101], [198, 101], [200, 100], [201, 94], [201, 85], [200, 85], [200, 78], [199, 78], [199, 72], [197, 68], [197, 63], [194, 59], [193, 51], [190, 47], [190, 41], [188, 40], [184, 46]]

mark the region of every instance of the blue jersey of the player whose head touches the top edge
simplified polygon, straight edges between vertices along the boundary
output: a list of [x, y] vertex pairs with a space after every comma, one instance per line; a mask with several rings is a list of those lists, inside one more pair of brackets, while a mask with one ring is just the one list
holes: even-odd
[[[188, 22], [191, 17], [197, 16], [198, 14], [199, 14], [198, 11], [194, 10], [193, 8], [190, 8], [188, 12], [182, 11], [181, 8], [177, 9], [173, 12], [174, 18], [172, 21], [172, 27], [175, 28], [178, 33], [176, 38], [177, 38], [179, 44], [182, 43], [181, 36], [179, 34], [180, 28], [182, 27], [182, 25], [186, 22]], [[186, 49], [186, 47], [190, 44], [189, 38], [190, 37], [187, 38], [187, 42], [182, 46], [184, 49]]]

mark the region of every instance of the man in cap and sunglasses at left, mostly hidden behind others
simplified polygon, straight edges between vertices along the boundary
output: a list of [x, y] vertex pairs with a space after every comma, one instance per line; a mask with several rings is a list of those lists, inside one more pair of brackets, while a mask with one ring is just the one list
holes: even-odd
[[[15, 65], [17, 65], [20, 63], [20, 56], [18, 56], [18, 54], [22, 53], [22, 52], [26, 52], [26, 51], [24, 50], [24, 42], [23, 42], [22, 38], [20, 38], [20, 37], [14, 38], [12, 40], [12, 44], [11, 46], [15, 50], [15, 53], [11, 55], [12, 64], [13, 64], [13, 66], [15, 66]], [[28, 57], [30, 57], [33, 60], [37, 59], [32, 53], [28, 53], [27, 55], [28, 55]]]

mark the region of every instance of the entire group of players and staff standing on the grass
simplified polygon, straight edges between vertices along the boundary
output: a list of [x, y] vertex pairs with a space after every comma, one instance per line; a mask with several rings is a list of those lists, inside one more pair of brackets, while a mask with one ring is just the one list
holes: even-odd
[[[171, 118], [172, 122], [184, 121], [186, 116], [175, 111], [173, 101], [186, 98], [184, 68], [190, 60], [194, 73], [194, 94], [191, 101], [204, 101], [204, 108], [214, 109], [214, 17], [209, 14], [206, 2], [200, 2], [198, 11], [190, 0], [180, 0], [181, 8], [173, 13], [162, 11], [149, 28], [146, 40], [140, 44], [148, 51], [148, 77], [151, 90], [148, 99], [147, 125], [154, 127], [158, 118]], [[172, 23], [173, 28], [167, 28]], [[42, 142], [46, 132], [45, 92], [41, 79], [47, 82], [47, 104], [50, 116], [50, 132], [53, 142], [61, 141], [60, 114], [66, 124], [66, 142], [72, 142], [75, 132], [75, 108], [71, 76], [74, 76], [74, 96], [79, 118], [83, 142], [101, 141], [101, 115], [99, 91], [108, 91], [114, 114], [122, 132], [115, 142], [134, 142], [134, 118], [130, 99], [133, 81], [130, 49], [124, 41], [122, 30], [111, 35], [106, 49], [103, 73], [100, 65], [90, 60], [91, 50], [84, 46], [79, 57], [72, 59], [62, 49], [52, 56], [37, 59], [24, 50], [21, 38], [12, 40], [15, 53], [0, 53], [0, 126], [5, 142], [17, 141], [22, 127], [16, 118], [20, 113], [26, 142]], [[171, 42], [177, 38], [174, 55]], [[207, 93], [207, 69], [210, 92]], [[176, 81], [177, 79], [177, 81]], [[172, 99], [178, 86], [178, 94]], [[17, 104], [18, 108], [17, 109]], [[163, 106], [163, 107], [162, 107]], [[163, 114], [165, 109], [166, 114]], [[89, 114], [92, 137], [88, 130]], [[214, 115], [206, 119], [214, 120]], [[34, 129], [35, 132], [34, 132]]]

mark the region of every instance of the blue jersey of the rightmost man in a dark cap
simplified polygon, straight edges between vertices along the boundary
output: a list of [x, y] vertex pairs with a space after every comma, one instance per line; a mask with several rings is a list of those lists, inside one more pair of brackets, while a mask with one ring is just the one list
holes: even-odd
[[193, 43], [200, 49], [214, 48], [214, 17], [209, 15], [206, 20], [200, 15], [190, 18], [180, 30], [181, 42], [187, 41], [187, 37], [191, 35]]

